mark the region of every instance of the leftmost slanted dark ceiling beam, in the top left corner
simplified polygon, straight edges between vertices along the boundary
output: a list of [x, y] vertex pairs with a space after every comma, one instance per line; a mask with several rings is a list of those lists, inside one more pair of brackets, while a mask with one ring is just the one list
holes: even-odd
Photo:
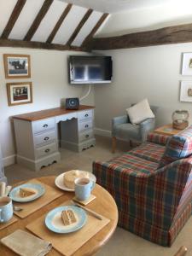
[[1, 38], [7, 39], [9, 37], [10, 32], [12, 31], [13, 27], [15, 26], [15, 22], [18, 19], [21, 10], [23, 9], [26, 0], [18, 0], [15, 4], [15, 8], [13, 9], [12, 14], [8, 20], [7, 25], [5, 26]]

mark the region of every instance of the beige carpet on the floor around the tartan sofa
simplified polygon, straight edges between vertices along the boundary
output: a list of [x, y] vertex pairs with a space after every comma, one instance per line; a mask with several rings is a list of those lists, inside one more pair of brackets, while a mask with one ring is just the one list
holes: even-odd
[[[58, 175], [71, 169], [91, 172], [93, 160], [109, 160], [129, 149], [126, 143], [119, 142], [116, 154], [111, 154], [111, 142], [107, 137], [96, 137], [96, 147], [84, 150], [82, 153], [61, 149], [61, 163], [43, 168], [39, 172], [32, 172], [23, 166], [13, 165], [5, 168], [9, 184], [32, 177]], [[171, 248], [160, 247], [146, 241], [130, 232], [119, 229], [113, 237], [102, 247], [96, 256], [173, 256], [182, 245], [188, 247], [186, 256], [192, 256], [192, 218], [189, 218], [177, 240]], [[82, 255], [84, 256], [84, 255]]]

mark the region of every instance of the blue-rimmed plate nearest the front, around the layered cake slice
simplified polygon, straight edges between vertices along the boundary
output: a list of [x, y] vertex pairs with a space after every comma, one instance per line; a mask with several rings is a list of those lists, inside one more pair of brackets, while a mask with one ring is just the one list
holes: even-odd
[[[61, 212], [72, 209], [77, 222], [65, 226], [61, 219]], [[83, 209], [75, 206], [56, 207], [45, 217], [45, 225], [55, 233], [67, 234], [81, 229], [87, 221], [87, 215]]]

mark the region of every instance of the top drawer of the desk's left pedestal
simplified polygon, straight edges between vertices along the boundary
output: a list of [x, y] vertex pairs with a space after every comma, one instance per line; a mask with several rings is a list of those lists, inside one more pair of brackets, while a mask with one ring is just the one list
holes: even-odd
[[42, 119], [39, 121], [32, 122], [33, 133], [38, 133], [41, 131], [48, 131], [51, 129], [55, 129], [55, 118]]

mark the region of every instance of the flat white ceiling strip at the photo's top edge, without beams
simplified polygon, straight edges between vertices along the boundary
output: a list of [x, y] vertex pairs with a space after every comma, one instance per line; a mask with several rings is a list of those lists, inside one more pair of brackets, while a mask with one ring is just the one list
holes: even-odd
[[60, 0], [74, 3], [79, 6], [96, 9], [97, 11], [117, 13], [131, 9], [155, 7], [165, 3], [174, 3], [177, 0]]

